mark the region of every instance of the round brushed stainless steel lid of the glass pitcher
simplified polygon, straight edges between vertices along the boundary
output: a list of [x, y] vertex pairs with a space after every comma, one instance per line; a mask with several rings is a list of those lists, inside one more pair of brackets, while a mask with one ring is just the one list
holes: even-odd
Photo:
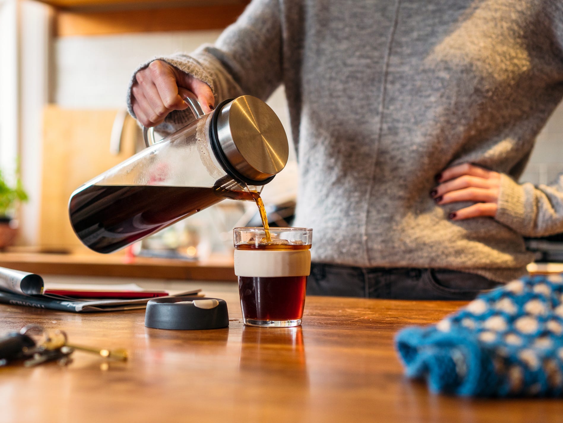
[[218, 144], [244, 178], [264, 181], [287, 163], [287, 135], [278, 116], [262, 100], [243, 95], [218, 108]]

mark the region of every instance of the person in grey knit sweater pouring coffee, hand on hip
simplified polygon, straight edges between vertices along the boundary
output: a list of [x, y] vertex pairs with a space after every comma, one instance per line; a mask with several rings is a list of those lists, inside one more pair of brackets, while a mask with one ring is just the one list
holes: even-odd
[[523, 236], [563, 232], [563, 179], [519, 184], [563, 95], [553, 0], [254, 0], [215, 45], [155, 58], [129, 111], [173, 130], [285, 86], [307, 293], [468, 299], [526, 272]]

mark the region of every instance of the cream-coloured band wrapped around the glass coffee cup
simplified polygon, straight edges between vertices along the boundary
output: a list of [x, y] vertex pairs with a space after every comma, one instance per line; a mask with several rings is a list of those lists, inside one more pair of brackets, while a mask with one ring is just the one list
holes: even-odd
[[237, 250], [235, 249], [235, 275], [247, 277], [309, 276], [311, 252]]

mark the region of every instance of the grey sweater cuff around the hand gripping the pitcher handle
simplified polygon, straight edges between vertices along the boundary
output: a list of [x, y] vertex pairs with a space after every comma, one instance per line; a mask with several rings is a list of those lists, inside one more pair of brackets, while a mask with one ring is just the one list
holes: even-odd
[[[148, 67], [148, 65], [155, 60], [166, 61], [166, 63], [172, 65], [173, 67], [175, 67], [177, 69], [180, 69], [182, 72], [190, 74], [194, 78], [207, 83], [207, 85], [209, 85], [209, 87], [211, 87], [213, 94], [215, 94], [215, 89], [213, 87], [213, 78], [211, 77], [211, 74], [209, 74], [205, 70], [204, 66], [194, 57], [188, 56], [188, 55], [185, 55], [185, 54], [176, 54], [176, 55], [172, 55], [172, 56], [155, 57], [154, 59], [151, 59], [151, 60], [147, 61], [146, 63], [140, 65], [135, 70], [135, 72], [133, 72], [131, 80], [129, 81], [129, 86], [128, 86], [128, 89], [127, 89], [127, 109], [129, 111], [129, 114], [131, 114], [131, 116], [133, 116], [134, 118], [137, 118], [137, 117], [135, 116], [135, 112], [133, 112], [133, 107], [132, 107], [132, 104], [131, 104], [131, 89], [133, 87], [133, 83], [135, 83], [135, 81], [136, 81], [136, 78], [135, 78], [136, 74], [137, 74], [137, 72], [139, 72], [139, 70], [142, 70], [142, 69], [145, 69], [146, 67]], [[193, 118], [194, 118], [193, 114], [190, 112], [189, 109], [175, 110], [175, 111], [170, 112], [168, 114], [168, 116], [166, 117], [166, 120], [164, 120], [164, 123], [157, 126], [156, 129], [159, 133], [172, 133], [173, 131], [179, 129], [180, 127], [183, 127], [183, 126], [186, 126], [187, 124], [189, 124], [193, 120]]]

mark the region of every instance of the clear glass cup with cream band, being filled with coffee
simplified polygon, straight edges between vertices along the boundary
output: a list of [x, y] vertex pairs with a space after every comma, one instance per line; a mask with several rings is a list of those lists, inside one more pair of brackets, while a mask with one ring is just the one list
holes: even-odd
[[301, 325], [307, 276], [311, 271], [312, 229], [235, 228], [235, 275], [244, 324]]

